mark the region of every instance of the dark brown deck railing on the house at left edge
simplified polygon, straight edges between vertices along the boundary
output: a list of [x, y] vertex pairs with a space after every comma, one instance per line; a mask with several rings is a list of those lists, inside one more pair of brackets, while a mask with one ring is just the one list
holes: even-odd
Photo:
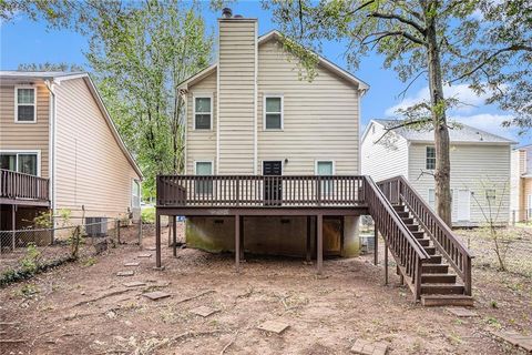
[[49, 180], [0, 169], [0, 199], [47, 202]]

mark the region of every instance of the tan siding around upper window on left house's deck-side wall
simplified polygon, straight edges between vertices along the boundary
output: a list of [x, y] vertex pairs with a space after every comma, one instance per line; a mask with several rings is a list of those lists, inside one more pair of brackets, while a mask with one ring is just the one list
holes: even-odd
[[40, 175], [49, 178], [50, 92], [35, 84], [37, 123], [14, 122], [14, 85], [0, 85], [0, 150], [40, 150]]

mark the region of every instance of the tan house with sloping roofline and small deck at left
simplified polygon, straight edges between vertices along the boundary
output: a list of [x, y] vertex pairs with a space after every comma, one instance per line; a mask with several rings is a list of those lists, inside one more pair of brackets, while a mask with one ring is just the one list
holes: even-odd
[[0, 231], [39, 212], [125, 217], [142, 173], [86, 73], [0, 71]]

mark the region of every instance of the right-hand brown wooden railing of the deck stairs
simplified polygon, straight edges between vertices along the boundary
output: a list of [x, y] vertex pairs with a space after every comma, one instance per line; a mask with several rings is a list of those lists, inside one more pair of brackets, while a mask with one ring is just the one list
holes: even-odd
[[432, 240], [438, 251], [449, 262], [449, 265], [458, 276], [462, 278], [466, 295], [470, 296], [472, 293], [471, 261], [473, 255], [463, 242], [458, 239], [447, 223], [436, 214], [405, 176], [390, 178], [378, 182], [377, 185], [385, 195], [389, 193], [390, 199], [397, 197], [407, 205], [408, 210]]

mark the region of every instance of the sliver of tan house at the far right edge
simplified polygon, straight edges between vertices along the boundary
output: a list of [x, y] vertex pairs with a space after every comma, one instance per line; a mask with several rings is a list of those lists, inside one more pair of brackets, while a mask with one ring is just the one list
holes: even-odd
[[532, 144], [512, 151], [510, 221], [532, 220]]

